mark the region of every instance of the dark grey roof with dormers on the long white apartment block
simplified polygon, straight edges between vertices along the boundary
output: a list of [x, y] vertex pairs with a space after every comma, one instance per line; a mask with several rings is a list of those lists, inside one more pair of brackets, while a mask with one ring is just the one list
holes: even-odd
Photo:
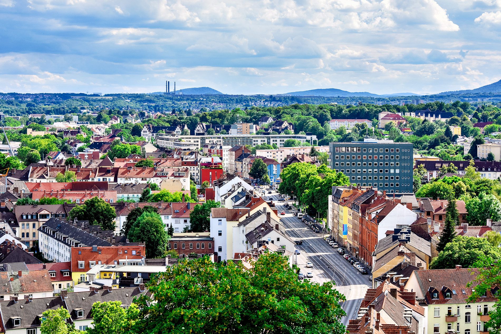
[[80, 243], [79, 246], [111, 246], [111, 243], [108, 241], [55, 217], [51, 217], [38, 230], [53, 237], [56, 232], [63, 234], [64, 238], [58, 240], [68, 246], [71, 246], [71, 239], [78, 241]]

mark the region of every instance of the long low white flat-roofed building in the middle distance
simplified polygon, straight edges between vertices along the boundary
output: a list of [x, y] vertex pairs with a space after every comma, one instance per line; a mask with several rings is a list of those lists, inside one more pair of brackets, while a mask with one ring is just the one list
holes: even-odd
[[[317, 140], [316, 135], [200, 135], [200, 136], [158, 136], [156, 143], [159, 147], [169, 147], [172, 142], [179, 141], [180, 143], [190, 146], [190, 149], [198, 150], [203, 145], [261, 145], [261, 144], [276, 144], [277, 147], [283, 147], [288, 139], [297, 139], [302, 143], [314, 144]], [[181, 148], [180, 148], [181, 149]]]

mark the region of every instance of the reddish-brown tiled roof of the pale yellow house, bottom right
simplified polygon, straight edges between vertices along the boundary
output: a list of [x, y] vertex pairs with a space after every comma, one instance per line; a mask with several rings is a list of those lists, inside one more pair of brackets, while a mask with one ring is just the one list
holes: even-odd
[[[412, 273], [416, 276], [416, 280], [424, 296], [424, 301], [427, 304], [458, 304], [466, 303], [466, 298], [471, 295], [471, 287], [466, 285], [472, 282], [478, 275], [476, 268], [460, 268], [460, 269], [434, 269], [434, 270], [416, 270]], [[473, 288], [477, 284], [473, 283]], [[447, 287], [450, 290], [455, 290], [456, 293], [451, 294], [451, 298], [445, 299], [442, 293], [442, 288]], [[438, 291], [438, 299], [432, 299], [430, 288], [435, 288]], [[463, 293], [464, 291], [465, 293]], [[477, 302], [496, 301], [492, 297], [489, 290], [486, 292], [486, 297], [480, 297]], [[472, 310], [473, 311], [473, 310]]]

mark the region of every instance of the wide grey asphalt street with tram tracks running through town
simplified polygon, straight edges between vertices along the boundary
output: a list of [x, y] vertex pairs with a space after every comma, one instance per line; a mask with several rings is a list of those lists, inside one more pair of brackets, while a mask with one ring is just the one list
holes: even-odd
[[[270, 195], [267, 194], [267, 196]], [[285, 208], [285, 203], [277, 201], [279, 197], [275, 193], [273, 198], [279, 215], [282, 211], [286, 213], [286, 215], [280, 215], [286, 233], [293, 240], [303, 240], [303, 244], [296, 245], [296, 249], [301, 251], [301, 255], [298, 255], [296, 259], [298, 266], [302, 268], [301, 272], [304, 274], [312, 272], [313, 278], [311, 279], [319, 283], [330, 280], [338, 286], [337, 289], [347, 298], [347, 301], [341, 303], [347, 314], [341, 321], [348, 324], [349, 319], [356, 317], [360, 303], [370, 286], [369, 275], [362, 275], [336, 252], [335, 248], [328, 245], [322, 233], [315, 233], [301, 222], [301, 219], [290, 214], [290, 210]], [[327, 234], [324, 235], [327, 236]], [[313, 268], [306, 268], [307, 262], [311, 262]]]

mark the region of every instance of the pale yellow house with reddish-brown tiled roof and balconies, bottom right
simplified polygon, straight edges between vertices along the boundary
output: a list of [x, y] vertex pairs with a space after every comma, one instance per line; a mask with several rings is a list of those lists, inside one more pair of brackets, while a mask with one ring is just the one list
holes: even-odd
[[[489, 332], [485, 323], [497, 298], [487, 290], [485, 296], [474, 302], [466, 301], [475, 288], [476, 271], [460, 265], [455, 269], [412, 271], [405, 290], [414, 291], [416, 300], [425, 308], [424, 334]], [[470, 282], [472, 286], [468, 286]]]

